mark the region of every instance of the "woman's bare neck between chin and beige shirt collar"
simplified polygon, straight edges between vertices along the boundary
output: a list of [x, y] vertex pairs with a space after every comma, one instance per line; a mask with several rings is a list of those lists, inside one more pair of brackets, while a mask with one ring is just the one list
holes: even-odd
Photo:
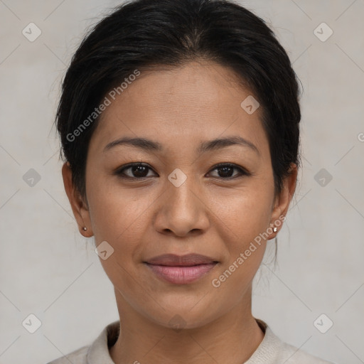
[[251, 292], [224, 316], [198, 328], [176, 330], [141, 316], [122, 299], [117, 306], [120, 335], [110, 348], [115, 364], [245, 363], [264, 338], [251, 312]]

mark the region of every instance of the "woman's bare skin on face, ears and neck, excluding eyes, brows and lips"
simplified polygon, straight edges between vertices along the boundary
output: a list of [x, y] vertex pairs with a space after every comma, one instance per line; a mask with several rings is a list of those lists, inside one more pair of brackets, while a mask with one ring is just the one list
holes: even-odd
[[[262, 241], [220, 287], [211, 284], [245, 252], [259, 233], [286, 215], [296, 188], [297, 169], [274, 196], [269, 144], [260, 109], [245, 112], [248, 95], [231, 70], [207, 61], [143, 72], [102, 114], [87, 155], [86, 198], [71, 183], [68, 163], [63, 181], [85, 237], [114, 249], [100, 259], [114, 285], [122, 331], [110, 355], [117, 364], [244, 363], [264, 333], [252, 316], [252, 279], [262, 261]], [[240, 136], [259, 153], [238, 144], [198, 154], [202, 141]], [[120, 137], [158, 141], [164, 151], [105, 146]], [[142, 162], [151, 169], [115, 171]], [[215, 164], [245, 168], [250, 176]], [[168, 176], [187, 176], [174, 186]], [[138, 171], [137, 171], [138, 172]], [[144, 174], [143, 174], [144, 173]], [[235, 176], [236, 178], [228, 178]], [[86, 226], [87, 231], [82, 227]], [[282, 224], [278, 226], [278, 231]], [[273, 239], [277, 232], [269, 234]], [[164, 282], [143, 263], [173, 253], [196, 253], [218, 264], [191, 284]], [[178, 315], [178, 316], [176, 316]], [[181, 330], [171, 327], [179, 318]]]

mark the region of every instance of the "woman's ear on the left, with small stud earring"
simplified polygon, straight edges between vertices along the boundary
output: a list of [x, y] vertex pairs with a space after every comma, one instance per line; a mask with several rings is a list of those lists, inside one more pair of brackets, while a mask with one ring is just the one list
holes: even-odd
[[[92, 237], [92, 226], [90, 220], [90, 213], [88, 210], [87, 203], [84, 201], [77, 188], [72, 182], [72, 171], [70, 168], [70, 163], [65, 162], [62, 167], [63, 184], [65, 185], [65, 193], [67, 193], [68, 200], [70, 201], [71, 208], [73, 210], [73, 215], [78, 224], [78, 230], [80, 234], [84, 237]], [[83, 228], [87, 230], [83, 230]]]

